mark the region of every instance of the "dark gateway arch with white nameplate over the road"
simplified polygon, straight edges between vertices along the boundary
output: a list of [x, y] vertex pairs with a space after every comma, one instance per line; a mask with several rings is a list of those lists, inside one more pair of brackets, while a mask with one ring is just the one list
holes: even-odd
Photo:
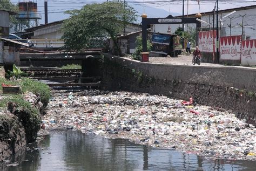
[[[200, 14], [201, 15], [201, 14]], [[198, 18], [200, 16], [198, 14]], [[175, 18], [169, 15], [166, 18], [147, 18], [147, 15], [143, 13], [142, 15], [142, 61], [149, 61], [149, 52], [147, 52], [147, 25], [149, 24], [197, 24], [197, 28], [201, 27], [201, 23], [198, 22], [197, 18], [182, 17]]]

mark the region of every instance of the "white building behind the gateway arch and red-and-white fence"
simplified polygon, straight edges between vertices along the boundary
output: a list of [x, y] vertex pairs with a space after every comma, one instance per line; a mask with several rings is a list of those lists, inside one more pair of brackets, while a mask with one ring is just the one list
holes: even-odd
[[[219, 10], [219, 30], [220, 36], [230, 36], [230, 35], [242, 35], [244, 32], [244, 39], [256, 39], [256, 5], [245, 6], [240, 8]], [[232, 15], [229, 15], [223, 18], [228, 13], [234, 12]], [[201, 13], [201, 20], [204, 20], [210, 25], [201, 23], [201, 29], [212, 29], [213, 28], [213, 16], [214, 16], [214, 28], [216, 28], [217, 20], [216, 13], [213, 15], [213, 11]], [[196, 13], [185, 15], [184, 17], [195, 17]], [[181, 18], [182, 16], [177, 16]], [[222, 22], [221, 22], [222, 20]], [[222, 24], [221, 24], [222, 23]], [[152, 26], [152, 31], [167, 33], [168, 30], [171, 30], [171, 33], [174, 33], [178, 27], [182, 27], [182, 24], [154, 24]], [[170, 29], [169, 29], [170, 28]], [[184, 24], [184, 31], [189, 30], [190, 28], [196, 28], [196, 24]]]

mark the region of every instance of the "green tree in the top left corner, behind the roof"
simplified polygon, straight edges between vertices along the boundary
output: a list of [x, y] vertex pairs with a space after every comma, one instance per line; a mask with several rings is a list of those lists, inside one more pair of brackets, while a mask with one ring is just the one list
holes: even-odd
[[[18, 6], [12, 4], [10, 0], [1, 0], [0, 1], [0, 9], [11, 11], [11, 12], [18, 12]], [[18, 20], [14, 16], [10, 16], [10, 29], [17, 29]]]

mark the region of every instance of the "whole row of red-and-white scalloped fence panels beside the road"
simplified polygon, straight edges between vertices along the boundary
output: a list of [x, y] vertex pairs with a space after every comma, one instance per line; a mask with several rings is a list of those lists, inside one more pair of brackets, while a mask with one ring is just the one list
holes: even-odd
[[[201, 31], [198, 33], [198, 46], [201, 52], [208, 56], [217, 50], [216, 31]], [[214, 37], [214, 38], [213, 38]], [[242, 40], [242, 36], [220, 37], [220, 61], [231, 61], [233, 64], [256, 65], [256, 39]], [[214, 60], [213, 60], [214, 61]]]

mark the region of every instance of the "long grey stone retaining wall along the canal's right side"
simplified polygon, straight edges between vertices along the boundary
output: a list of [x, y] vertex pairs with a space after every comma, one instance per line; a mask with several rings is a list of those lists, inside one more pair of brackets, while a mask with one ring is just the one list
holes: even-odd
[[109, 90], [163, 94], [237, 112], [255, 124], [256, 69], [140, 63], [105, 54], [103, 83]]

